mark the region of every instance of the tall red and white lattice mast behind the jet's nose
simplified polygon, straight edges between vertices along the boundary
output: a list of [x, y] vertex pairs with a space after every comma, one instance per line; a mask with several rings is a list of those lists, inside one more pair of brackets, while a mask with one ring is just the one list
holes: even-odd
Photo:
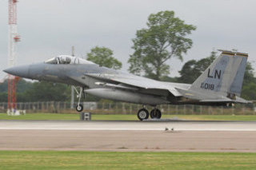
[[[8, 67], [16, 65], [16, 44], [20, 42], [20, 36], [17, 34], [17, 0], [9, 0], [9, 44], [8, 44]], [[16, 111], [16, 85], [18, 77], [8, 75], [8, 109], [7, 113]]]

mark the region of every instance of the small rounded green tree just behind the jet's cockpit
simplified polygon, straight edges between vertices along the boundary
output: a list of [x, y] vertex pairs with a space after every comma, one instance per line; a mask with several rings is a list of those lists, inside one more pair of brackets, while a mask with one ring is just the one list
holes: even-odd
[[87, 53], [87, 60], [108, 68], [122, 68], [122, 62], [113, 57], [113, 51], [103, 46], [96, 46], [93, 49], [90, 49], [90, 53]]

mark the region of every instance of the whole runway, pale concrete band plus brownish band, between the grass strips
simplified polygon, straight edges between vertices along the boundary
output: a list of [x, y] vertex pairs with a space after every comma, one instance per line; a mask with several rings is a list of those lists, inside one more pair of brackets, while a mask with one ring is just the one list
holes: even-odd
[[256, 152], [256, 122], [0, 121], [1, 150]]

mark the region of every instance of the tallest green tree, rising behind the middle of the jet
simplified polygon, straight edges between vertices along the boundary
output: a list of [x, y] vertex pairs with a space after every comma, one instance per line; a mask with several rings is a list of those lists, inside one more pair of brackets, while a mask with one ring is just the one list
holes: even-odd
[[166, 65], [171, 57], [182, 61], [182, 54], [192, 46], [192, 40], [186, 38], [195, 26], [187, 25], [174, 17], [174, 11], [161, 11], [150, 14], [146, 29], [138, 30], [133, 39], [134, 53], [130, 55], [130, 73], [160, 80], [170, 73]]

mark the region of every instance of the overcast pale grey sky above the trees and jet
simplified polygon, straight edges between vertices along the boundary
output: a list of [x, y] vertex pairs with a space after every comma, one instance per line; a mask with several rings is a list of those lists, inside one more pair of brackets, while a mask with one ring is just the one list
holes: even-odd
[[[256, 1], [246, 0], [20, 0], [18, 2], [18, 65], [45, 61], [59, 54], [86, 57], [94, 46], [106, 46], [122, 61], [122, 71], [134, 51], [132, 39], [146, 28], [147, 18], [174, 10], [186, 24], [197, 26], [193, 47], [183, 61], [171, 58], [170, 77], [186, 61], [208, 57], [213, 49], [249, 53], [256, 69]], [[0, 77], [7, 68], [8, 0], [0, 0]]]

